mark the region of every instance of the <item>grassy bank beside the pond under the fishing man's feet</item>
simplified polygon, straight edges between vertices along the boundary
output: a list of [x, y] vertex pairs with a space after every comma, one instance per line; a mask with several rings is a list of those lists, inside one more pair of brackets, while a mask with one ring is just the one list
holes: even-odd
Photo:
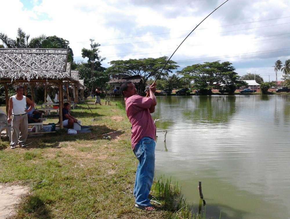
[[[163, 180], [153, 185], [153, 200], [161, 203], [153, 203], [156, 211], [134, 207], [137, 159], [130, 136], [118, 137], [130, 129], [111, 134], [111, 140], [90, 139], [131, 127], [122, 105], [111, 104], [89, 104], [93, 114], [86, 104], [72, 110], [82, 125], [90, 125], [91, 133], [69, 136], [62, 130], [28, 138], [32, 143], [27, 148], [16, 149], [10, 149], [8, 138], [2, 139], [0, 183], [30, 187], [14, 218], [189, 218], [178, 211], [186, 209], [175, 201], [184, 202], [180, 190], [175, 185], [171, 191], [171, 183]], [[45, 123], [57, 122], [52, 116]]]

